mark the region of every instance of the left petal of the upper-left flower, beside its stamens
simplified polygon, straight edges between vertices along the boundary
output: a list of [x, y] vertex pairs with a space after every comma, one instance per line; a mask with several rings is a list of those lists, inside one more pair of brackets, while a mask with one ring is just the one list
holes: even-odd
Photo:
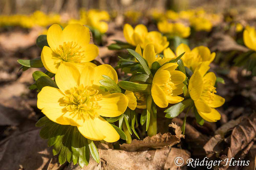
[[57, 69], [61, 64], [62, 60], [58, 58], [51, 48], [44, 46], [41, 53], [41, 60], [44, 67], [51, 73], [57, 73]]

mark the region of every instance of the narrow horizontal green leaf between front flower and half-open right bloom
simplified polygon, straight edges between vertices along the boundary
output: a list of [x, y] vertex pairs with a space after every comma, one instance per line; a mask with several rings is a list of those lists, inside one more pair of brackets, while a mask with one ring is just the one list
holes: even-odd
[[120, 81], [118, 85], [128, 91], [151, 93], [150, 84], [139, 84], [135, 82]]

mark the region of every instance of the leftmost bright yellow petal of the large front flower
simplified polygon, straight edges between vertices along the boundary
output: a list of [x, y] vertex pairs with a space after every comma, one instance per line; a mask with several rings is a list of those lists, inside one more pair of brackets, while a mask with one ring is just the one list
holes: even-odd
[[63, 97], [64, 94], [59, 89], [46, 86], [38, 93], [37, 106], [51, 121], [69, 125], [69, 122], [62, 117], [64, 106], [60, 105], [59, 100]]

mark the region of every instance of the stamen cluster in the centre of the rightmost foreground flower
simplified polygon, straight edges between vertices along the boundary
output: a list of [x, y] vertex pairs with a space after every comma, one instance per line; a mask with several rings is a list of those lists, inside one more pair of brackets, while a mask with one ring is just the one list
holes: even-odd
[[213, 80], [204, 80], [203, 91], [201, 97], [204, 98], [204, 101], [208, 104], [211, 104], [214, 100], [215, 93], [217, 92], [214, 86], [212, 86]]

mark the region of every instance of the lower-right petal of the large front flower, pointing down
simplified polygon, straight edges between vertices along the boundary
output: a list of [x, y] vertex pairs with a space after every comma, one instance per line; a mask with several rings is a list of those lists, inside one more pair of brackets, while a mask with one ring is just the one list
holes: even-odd
[[101, 133], [106, 136], [103, 140], [106, 142], [116, 142], [119, 140], [119, 134], [116, 132], [114, 127], [101, 116], [95, 118], [95, 124]]

